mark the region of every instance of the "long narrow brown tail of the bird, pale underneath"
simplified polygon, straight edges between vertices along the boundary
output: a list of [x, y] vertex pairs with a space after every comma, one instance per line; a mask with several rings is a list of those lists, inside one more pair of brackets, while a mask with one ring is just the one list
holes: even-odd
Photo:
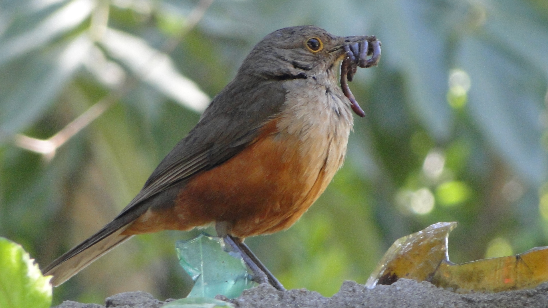
[[132, 237], [132, 235], [122, 235], [128, 225], [129, 222], [124, 219], [113, 220], [92, 237], [44, 267], [44, 276], [53, 275], [51, 283], [54, 287], [59, 286], [100, 256]]

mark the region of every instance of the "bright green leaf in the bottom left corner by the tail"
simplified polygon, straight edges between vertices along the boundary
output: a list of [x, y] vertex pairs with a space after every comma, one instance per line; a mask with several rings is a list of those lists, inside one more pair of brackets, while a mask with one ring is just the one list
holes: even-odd
[[0, 237], [0, 307], [48, 308], [52, 304], [50, 277], [19, 245]]

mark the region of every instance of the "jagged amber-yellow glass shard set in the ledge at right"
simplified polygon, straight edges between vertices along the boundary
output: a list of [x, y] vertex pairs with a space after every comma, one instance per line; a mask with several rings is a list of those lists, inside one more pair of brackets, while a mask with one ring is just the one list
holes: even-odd
[[366, 286], [392, 284], [399, 278], [429, 281], [457, 293], [501, 292], [535, 288], [548, 282], [548, 247], [522, 254], [463, 264], [449, 261], [447, 238], [456, 223], [437, 223], [399, 238], [380, 260]]

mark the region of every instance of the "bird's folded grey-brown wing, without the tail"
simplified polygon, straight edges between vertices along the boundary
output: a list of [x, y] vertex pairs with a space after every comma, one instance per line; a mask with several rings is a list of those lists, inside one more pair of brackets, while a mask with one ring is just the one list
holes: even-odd
[[236, 155], [281, 110], [285, 96], [286, 90], [279, 81], [248, 76], [238, 79], [237, 84], [231, 82], [214, 98], [189, 135], [156, 167], [120, 215], [145, 199]]

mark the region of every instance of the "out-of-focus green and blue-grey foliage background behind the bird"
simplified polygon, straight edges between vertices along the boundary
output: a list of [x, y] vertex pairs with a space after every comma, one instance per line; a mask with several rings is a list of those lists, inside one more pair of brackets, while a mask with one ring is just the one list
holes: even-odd
[[[364, 283], [398, 237], [458, 221], [455, 263], [548, 245], [545, 0], [2, 0], [0, 236], [41, 267], [109, 222], [262, 37], [376, 35], [348, 158], [291, 229], [249, 238], [288, 288]], [[136, 236], [54, 290], [103, 303], [189, 286]]]

